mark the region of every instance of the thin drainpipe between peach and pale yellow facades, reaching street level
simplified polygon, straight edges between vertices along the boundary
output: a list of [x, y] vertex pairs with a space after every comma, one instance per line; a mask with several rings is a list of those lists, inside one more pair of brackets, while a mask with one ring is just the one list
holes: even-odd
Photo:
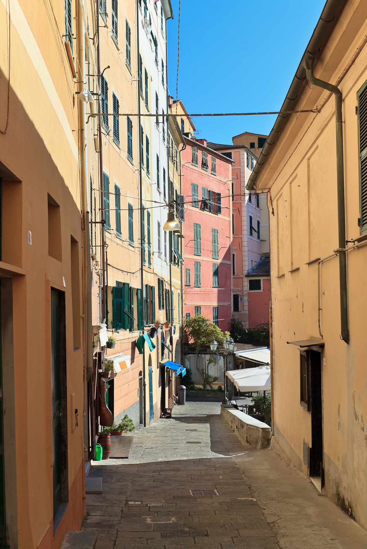
[[[139, 46], [139, 4], [136, 0], [136, 61], [139, 63], [139, 54], [140, 54], [140, 46]], [[144, 288], [144, 265], [143, 265], [143, 197], [142, 197], [142, 173], [141, 173], [141, 132], [140, 132], [140, 126], [141, 126], [141, 115], [140, 115], [140, 70], [138, 68], [137, 70], [137, 113], [138, 113], [138, 127], [137, 127], [137, 135], [139, 140], [139, 208], [140, 208], [140, 285], [141, 285], [141, 307], [144, 303], [144, 296], [143, 296], [143, 288]], [[144, 311], [142, 310], [142, 321], [143, 321], [143, 327], [142, 327], [142, 334], [144, 334]], [[144, 352], [143, 345], [143, 356], [142, 356], [142, 363], [143, 363], [143, 418], [144, 418], [144, 427], [147, 425], [146, 420], [146, 380], [145, 380], [145, 352]]]

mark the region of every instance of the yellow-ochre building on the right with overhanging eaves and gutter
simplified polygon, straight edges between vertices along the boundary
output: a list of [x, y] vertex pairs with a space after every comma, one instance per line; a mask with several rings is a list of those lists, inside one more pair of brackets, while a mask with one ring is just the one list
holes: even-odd
[[335, 6], [282, 107], [313, 111], [278, 116], [246, 188], [268, 195], [275, 441], [365, 528], [367, 8]]

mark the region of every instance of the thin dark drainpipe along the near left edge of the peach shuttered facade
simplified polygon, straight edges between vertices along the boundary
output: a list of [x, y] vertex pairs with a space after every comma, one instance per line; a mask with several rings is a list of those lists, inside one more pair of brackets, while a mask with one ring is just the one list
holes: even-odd
[[[97, 2], [97, 72], [96, 75], [97, 82], [98, 77], [101, 74], [101, 49], [100, 49], [100, 36], [99, 36], [99, 2]], [[101, 89], [101, 81], [99, 80], [99, 89]], [[98, 98], [98, 114], [101, 113], [101, 98]], [[102, 158], [102, 128], [101, 128], [101, 116], [98, 116], [98, 141], [99, 141], [99, 178], [100, 178], [100, 204], [102, 205], [102, 216], [101, 221], [104, 219], [104, 210], [103, 210], [103, 158]], [[106, 262], [105, 262], [105, 225], [101, 223], [101, 296], [100, 300], [102, 302], [102, 315], [100, 320], [103, 322], [106, 321], [106, 286], [105, 286], [105, 272], [106, 272]]]

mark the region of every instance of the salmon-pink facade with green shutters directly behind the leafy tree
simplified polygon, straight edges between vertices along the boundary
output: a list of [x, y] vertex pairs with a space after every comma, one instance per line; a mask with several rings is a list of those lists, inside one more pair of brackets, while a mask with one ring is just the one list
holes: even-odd
[[181, 151], [185, 199], [183, 307], [185, 317], [204, 315], [223, 331], [232, 317], [232, 160], [185, 138]]

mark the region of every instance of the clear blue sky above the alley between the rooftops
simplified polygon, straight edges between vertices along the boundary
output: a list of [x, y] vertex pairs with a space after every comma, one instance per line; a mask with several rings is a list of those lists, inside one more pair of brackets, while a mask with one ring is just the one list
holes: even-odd
[[[168, 85], [176, 97], [179, 0], [171, 0]], [[325, 0], [181, 0], [178, 96], [188, 113], [276, 111], [282, 106]], [[259, 9], [258, 9], [259, 8]], [[194, 119], [199, 138], [232, 143], [268, 134], [276, 116]]]

